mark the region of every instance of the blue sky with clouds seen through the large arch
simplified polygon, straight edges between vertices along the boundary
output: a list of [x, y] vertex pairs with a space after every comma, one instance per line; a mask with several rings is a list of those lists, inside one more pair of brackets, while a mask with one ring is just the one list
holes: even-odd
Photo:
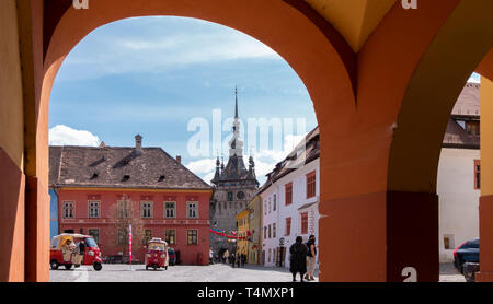
[[[55, 81], [49, 113], [50, 144], [162, 147], [209, 182], [216, 151], [193, 157], [191, 119], [211, 126], [240, 117], [305, 119], [317, 126], [310, 96], [295, 71], [271, 48], [232, 28], [183, 17], [127, 19], [88, 35], [69, 54]], [[227, 138], [227, 126], [222, 138]], [[301, 138], [283, 132], [283, 149], [254, 151], [260, 182]], [[226, 154], [228, 151], [222, 151]], [[249, 144], [245, 143], [245, 153]]]

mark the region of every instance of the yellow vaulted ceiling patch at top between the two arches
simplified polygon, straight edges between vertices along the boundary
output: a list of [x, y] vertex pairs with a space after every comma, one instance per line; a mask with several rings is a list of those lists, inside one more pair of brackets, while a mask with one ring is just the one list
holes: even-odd
[[358, 52], [397, 0], [305, 0]]

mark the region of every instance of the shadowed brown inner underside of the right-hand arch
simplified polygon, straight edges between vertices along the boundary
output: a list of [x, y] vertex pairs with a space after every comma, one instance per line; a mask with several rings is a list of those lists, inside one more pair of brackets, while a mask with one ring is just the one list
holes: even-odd
[[[438, 277], [438, 159], [454, 104], [491, 50], [491, 10], [489, 1], [461, 1], [408, 85], [390, 151], [387, 197], [387, 222], [395, 227], [388, 235], [389, 250], [405, 260], [390, 260], [390, 268], [414, 262], [427, 269], [424, 276]], [[400, 224], [403, 219], [420, 219], [420, 225]], [[425, 260], [405, 254], [414, 246], [422, 248]]]

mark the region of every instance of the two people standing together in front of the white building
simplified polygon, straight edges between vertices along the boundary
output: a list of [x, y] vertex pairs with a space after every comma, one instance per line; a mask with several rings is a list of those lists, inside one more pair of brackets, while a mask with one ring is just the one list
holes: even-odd
[[296, 274], [300, 274], [300, 281], [313, 281], [313, 272], [317, 262], [317, 245], [314, 235], [310, 235], [307, 244], [303, 244], [301, 236], [296, 237], [296, 243], [289, 248], [290, 260], [289, 271], [293, 273], [293, 281], [296, 282]]

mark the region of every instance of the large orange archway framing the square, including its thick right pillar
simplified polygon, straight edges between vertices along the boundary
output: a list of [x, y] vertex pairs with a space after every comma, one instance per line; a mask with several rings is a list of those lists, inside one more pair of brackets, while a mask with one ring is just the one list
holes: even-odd
[[[71, 8], [71, 0], [57, 2], [61, 1], [64, 5], [47, 0], [18, 0], [24, 132], [13, 137], [21, 138], [24, 145], [18, 153], [25, 161], [16, 188], [25, 192], [25, 199], [19, 192], [13, 194], [19, 203], [11, 209], [18, 206], [25, 209], [25, 237], [31, 249], [26, 252], [23, 242], [12, 243], [15, 253], [27, 253], [25, 269], [21, 261], [10, 258], [9, 265], [2, 264], [3, 273], [16, 270], [25, 272], [30, 281], [49, 279], [49, 200], [45, 194], [48, 104], [53, 81], [65, 57], [103, 24], [130, 16], [173, 14], [216, 22], [253, 36], [284, 57], [307, 86], [321, 133], [320, 279], [402, 280], [400, 268], [409, 254], [400, 250], [402, 243], [395, 239], [411, 235], [412, 244], [416, 241], [415, 232], [409, 234], [416, 224], [405, 225], [410, 217], [405, 212], [421, 210], [414, 208], [416, 201], [433, 204], [435, 200], [434, 186], [422, 182], [436, 171], [420, 162], [414, 162], [419, 167], [410, 167], [408, 159], [401, 156], [409, 155], [406, 148], [414, 136], [403, 129], [414, 127], [412, 121], [420, 105], [416, 96], [426, 87], [426, 82], [419, 80], [429, 80], [429, 69], [442, 62], [434, 58], [450, 51], [443, 39], [447, 42], [447, 36], [463, 33], [460, 24], [468, 20], [466, 12], [473, 8], [470, 5], [478, 5], [469, 16], [477, 26], [473, 19], [491, 11], [490, 0], [422, 1], [419, 10], [404, 10], [401, 1], [393, 4], [386, 1], [390, 10], [376, 23], [375, 31], [367, 33], [368, 38], [362, 40], [357, 32], [353, 34], [357, 44], [354, 50], [303, 1], [99, 0], [91, 1], [89, 10]], [[365, 7], [363, 14], [370, 9]], [[15, 8], [12, 10], [15, 12]], [[478, 54], [473, 60], [484, 57], [485, 54], [479, 55], [481, 47], [474, 47], [473, 52]], [[459, 87], [460, 78], [463, 84], [467, 72], [475, 67], [467, 60], [460, 63], [463, 66], [454, 74], [450, 82], [454, 84], [444, 85], [444, 90]], [[437, 110], [444, 113], [446, 106], [447, 102]], [[436, 154], [436, 142], [432, 139], [436, 139], [440, 126], [433, 122], [429, 126], [434, 130], [429, 151]], [[416, 175], [406, 175], [408, 167]], [[425, 169], [422, 172], [420, 167]], [[415, 182], [419, 177], [424, 179]], [[402, 208], [395, 209], [399, 206]], [[423, 208], [429, 210], [428, 206]], [[429, 219], [424, 219], [425, 223], [433, 222], [433, 212]], [[21, 220], [4, 224], [2, 231], [13, 230], [23, 235]], [[426, 250], [433, 250], [432, 247], [432, 243], [427, 244]], [[419, 280], [437, 279], [433, 258], [411, 261], [417, 264]], [[421, 276], [426, 265], [432, 270]], [[19, 276], [15, 280], [23, 278]]]

